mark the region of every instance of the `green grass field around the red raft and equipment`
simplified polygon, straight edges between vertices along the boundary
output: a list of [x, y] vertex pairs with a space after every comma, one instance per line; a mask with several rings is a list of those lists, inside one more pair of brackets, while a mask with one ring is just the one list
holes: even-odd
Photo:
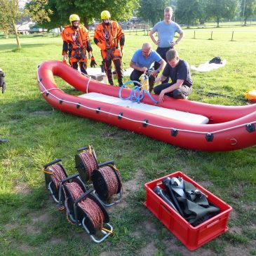
[[[215, 71], [192, 72], [190, 100], [245, 105], [241, 100], [245, 91], [256, 88], [256, 29], [236, 28], [234, 41], [224, 30], [213, 29], [211, 40], [210, 32], [196, 29], [194, 39], [194, 29], [186, 29], [177, 45], [180, 57], [190, 65], [215, 56], [227, 60]], [[150, 39], [143, 32], [126, 32], [124, 67], [145, 41]], [[9, 140], [0, 144], [0, 255], [256, 255], [256, 147], [190, 151], [59, 112], [41, 97], [36, 67], [46, 60], [61, 60], [61, 37], [22, 37], [21, 43], [22, 50], [15, 50], [15, 39], [0, 39], [0, 66], [7, 84], [6, 93], [0, 95], [0, 137]], [[100, 52], [93, 49], [100, 64]], [[56, 82], [67, 90], [61, 79]], [[209, 92], [231, 97], [210, 97]], [[115, 236], [100, 245], [58, 212], [41, 172], [45, 163], [61, 158], [67, 173], [76, 173], [76, 149], [88, 144], [95, 147], [99, 162], [115, 161], [125, 190], [123, 201], [108, 209]], [[229, 231], [194, 252], [143, 205], [144, 183], [176, 170], [234, 208]]]

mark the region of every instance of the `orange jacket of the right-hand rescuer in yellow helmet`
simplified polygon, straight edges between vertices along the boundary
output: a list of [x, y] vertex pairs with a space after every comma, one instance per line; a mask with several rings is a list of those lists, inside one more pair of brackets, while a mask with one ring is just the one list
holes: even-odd
[[123, 36], [123, 30], [116, 21], [110, 21], [109, 25], [100, 23], [94, 34], [94, 38], [100, 43], [106, 43], [107, 48], [117, 48], [121, 36]]

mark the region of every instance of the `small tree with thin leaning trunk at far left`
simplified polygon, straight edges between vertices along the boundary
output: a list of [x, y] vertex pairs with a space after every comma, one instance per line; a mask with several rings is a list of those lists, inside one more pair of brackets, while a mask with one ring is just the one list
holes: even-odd
[[13, 30], [17, 42], [17, 47], [20, 49], [20, 38], [15, 24], [16, 20], [21, 17], [19, 0], [0, 0], [0, 16], [1, 20], [4, 20], [5, 22], [4, 26]]

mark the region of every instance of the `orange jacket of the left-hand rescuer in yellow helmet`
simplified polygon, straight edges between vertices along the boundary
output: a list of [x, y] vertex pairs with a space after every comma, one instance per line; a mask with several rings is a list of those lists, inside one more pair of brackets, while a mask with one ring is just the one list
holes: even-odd
[[83, 25], [79, 25], [78, 29], [73, 29], [71, 25], [67, 25], [62, 31], [61, 36], [63, 41], [72, 46], [72, 49], [87, 48], [88, 41], [90, 40], [88, 29]]

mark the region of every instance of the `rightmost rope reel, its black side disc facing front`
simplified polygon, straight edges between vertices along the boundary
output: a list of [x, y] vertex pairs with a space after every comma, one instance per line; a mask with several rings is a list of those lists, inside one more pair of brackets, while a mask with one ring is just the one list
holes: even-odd
[[119, 198], [112, 203], [102, 202], [104, 206], [113, 206], [123, 198], [121, 175], [114, 165], [108, 164], [93, 170], [92, 182], [97, 195], [103, 201], [111, 201], [114, 195], [119, 194]]

